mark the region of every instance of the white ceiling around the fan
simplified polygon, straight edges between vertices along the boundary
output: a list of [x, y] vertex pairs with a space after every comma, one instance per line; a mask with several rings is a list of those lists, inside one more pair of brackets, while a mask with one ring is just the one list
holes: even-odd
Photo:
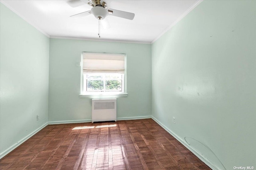
[[73, 37], [101, 40], [121, 40], [152, 43], [162, 33], [183, 18], [201, 0], [104, 0], [108, 9], [135, 14], [134, 20], [107, 16], [110, 29], [101, 28], [93, 15], [70, 18], [71, 15], [90, 10], [84, 4], [72, 8], [68, 0], [1, 0], [48, 37]]

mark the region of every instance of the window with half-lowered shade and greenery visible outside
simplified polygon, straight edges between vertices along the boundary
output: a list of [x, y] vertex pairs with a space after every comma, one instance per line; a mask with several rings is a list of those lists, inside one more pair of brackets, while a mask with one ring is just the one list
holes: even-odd
[[125, 55], [82, 53], [81, 95], [125, 94]]

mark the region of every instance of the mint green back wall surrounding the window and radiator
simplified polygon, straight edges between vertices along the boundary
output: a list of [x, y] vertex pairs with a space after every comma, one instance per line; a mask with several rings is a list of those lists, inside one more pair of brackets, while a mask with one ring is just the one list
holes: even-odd
[[151, 116], [150, 44], [50, 39], [50, 122], [92, 119], [92, 100], [79, 98], [82, 51], [126, 53], [128, 97], [117, 99], [117, 118]]

